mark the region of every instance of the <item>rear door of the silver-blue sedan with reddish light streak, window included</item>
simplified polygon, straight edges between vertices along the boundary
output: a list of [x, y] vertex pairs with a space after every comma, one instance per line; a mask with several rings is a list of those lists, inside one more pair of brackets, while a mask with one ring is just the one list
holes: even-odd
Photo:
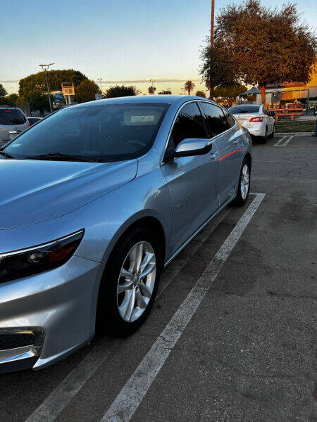
[[218, 149], [220, 163], [219, 204], [222, 206], [235, 195], [242, 158], [242, 133], [227, 110], [213, 103], [201, 101], [211, 139]]

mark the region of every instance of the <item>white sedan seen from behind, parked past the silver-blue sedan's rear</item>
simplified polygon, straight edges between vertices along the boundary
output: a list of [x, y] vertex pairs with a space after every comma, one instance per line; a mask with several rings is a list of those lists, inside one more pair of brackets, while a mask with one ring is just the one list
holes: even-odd
[[268, 137], [273, 138], [274, 115], [263, 104], [242, 104], [241, 106], [230, 107], [228, 111], [259, 141], [266, 143]]

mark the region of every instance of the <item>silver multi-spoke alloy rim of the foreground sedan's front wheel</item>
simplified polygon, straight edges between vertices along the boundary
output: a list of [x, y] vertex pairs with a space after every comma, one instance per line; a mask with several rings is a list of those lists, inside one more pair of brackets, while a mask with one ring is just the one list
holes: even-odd
[[154, 249], [146, 241], [138, 242], [126, 255], [118, 278], [117, 305], [124, 321], [136, 321], [147, 309], [155, 279]]

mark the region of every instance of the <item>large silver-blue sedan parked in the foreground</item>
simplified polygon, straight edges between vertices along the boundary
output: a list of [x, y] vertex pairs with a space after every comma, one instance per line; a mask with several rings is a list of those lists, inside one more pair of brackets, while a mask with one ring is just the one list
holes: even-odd
[[40, 369], [96, 324], [139, 328], [163, 267], [247, 202], [251, 136], [205, 98], [109, 98], [20, 134], [0, 171], [0, 372]]

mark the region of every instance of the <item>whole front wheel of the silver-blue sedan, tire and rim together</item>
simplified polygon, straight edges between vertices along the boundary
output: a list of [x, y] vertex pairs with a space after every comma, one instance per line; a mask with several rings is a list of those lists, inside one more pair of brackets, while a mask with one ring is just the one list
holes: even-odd
[[113, 337], [134, 333], [151, 311], [160, 270], [159, 243], [150, 229], [138, 227], [124, 236], [104, 271], [97, 326]]

